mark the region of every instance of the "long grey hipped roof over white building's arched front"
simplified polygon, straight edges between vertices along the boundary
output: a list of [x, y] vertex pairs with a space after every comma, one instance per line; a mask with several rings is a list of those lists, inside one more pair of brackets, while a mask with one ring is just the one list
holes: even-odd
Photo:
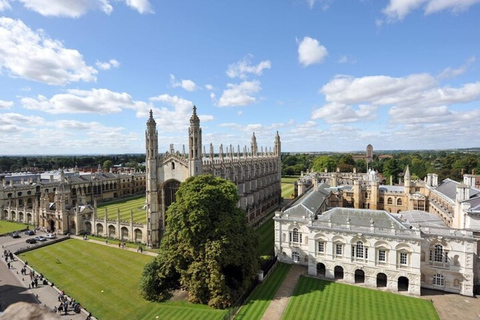
[[[384, 210], [371, 209], [354, 209], [337, 207], [325, 211], [318, 217], [318, 222], [329, 222], [332, 224], [346, 225], [347, 220], [350, 219], [350, 226], [354, 227], [370, 227], [371, 222], [374, 222], [375, 228], [390, 229], [393, 227], [396, 230], [408, 229], [401, 220]], [[313, 225], [317, 223], [313, 222]]]

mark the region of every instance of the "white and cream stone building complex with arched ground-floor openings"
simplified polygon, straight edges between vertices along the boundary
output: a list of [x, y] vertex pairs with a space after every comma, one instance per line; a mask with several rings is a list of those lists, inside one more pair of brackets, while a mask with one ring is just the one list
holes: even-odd
[[[473, 181], [473, 183], [472, 183]], [[277, 211], [279, 260], [308, 273], [373, 288], [420, 295], [431, 288], [471, 296], [480, 284], [480, 190], [464, 182], [378, 184], [367, 174], [312, 173], [299, 197]]]

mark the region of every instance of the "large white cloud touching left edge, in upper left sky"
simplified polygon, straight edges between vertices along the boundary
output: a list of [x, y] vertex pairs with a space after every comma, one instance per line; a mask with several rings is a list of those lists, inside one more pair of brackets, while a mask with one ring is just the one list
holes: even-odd
[[50, 85], [97, 79], [97, 70], [86, 65], [80, 52], [42, 30], [32, 31], [21, 20], [0, 17], [0, 39], [0, 68], [13, 77]]

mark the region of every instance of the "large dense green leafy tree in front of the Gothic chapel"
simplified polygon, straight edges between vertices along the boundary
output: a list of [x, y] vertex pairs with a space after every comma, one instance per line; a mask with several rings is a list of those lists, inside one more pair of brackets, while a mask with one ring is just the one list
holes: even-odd
[[202, 175], [180, 185], [160, 254], [143, 271], [146, 299], [161, 301], [182, 287], [193, 303], [226, 308], [248, 289], [258, 271], [258, 240], [237, 202], [237, 187], [221, 178]]

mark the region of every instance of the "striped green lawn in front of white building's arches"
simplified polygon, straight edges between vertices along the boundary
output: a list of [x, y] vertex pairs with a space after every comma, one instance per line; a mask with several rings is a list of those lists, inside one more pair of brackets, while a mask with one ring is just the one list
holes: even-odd
[[427, 300], [301, 277], [282, 319], [439, 318]]

